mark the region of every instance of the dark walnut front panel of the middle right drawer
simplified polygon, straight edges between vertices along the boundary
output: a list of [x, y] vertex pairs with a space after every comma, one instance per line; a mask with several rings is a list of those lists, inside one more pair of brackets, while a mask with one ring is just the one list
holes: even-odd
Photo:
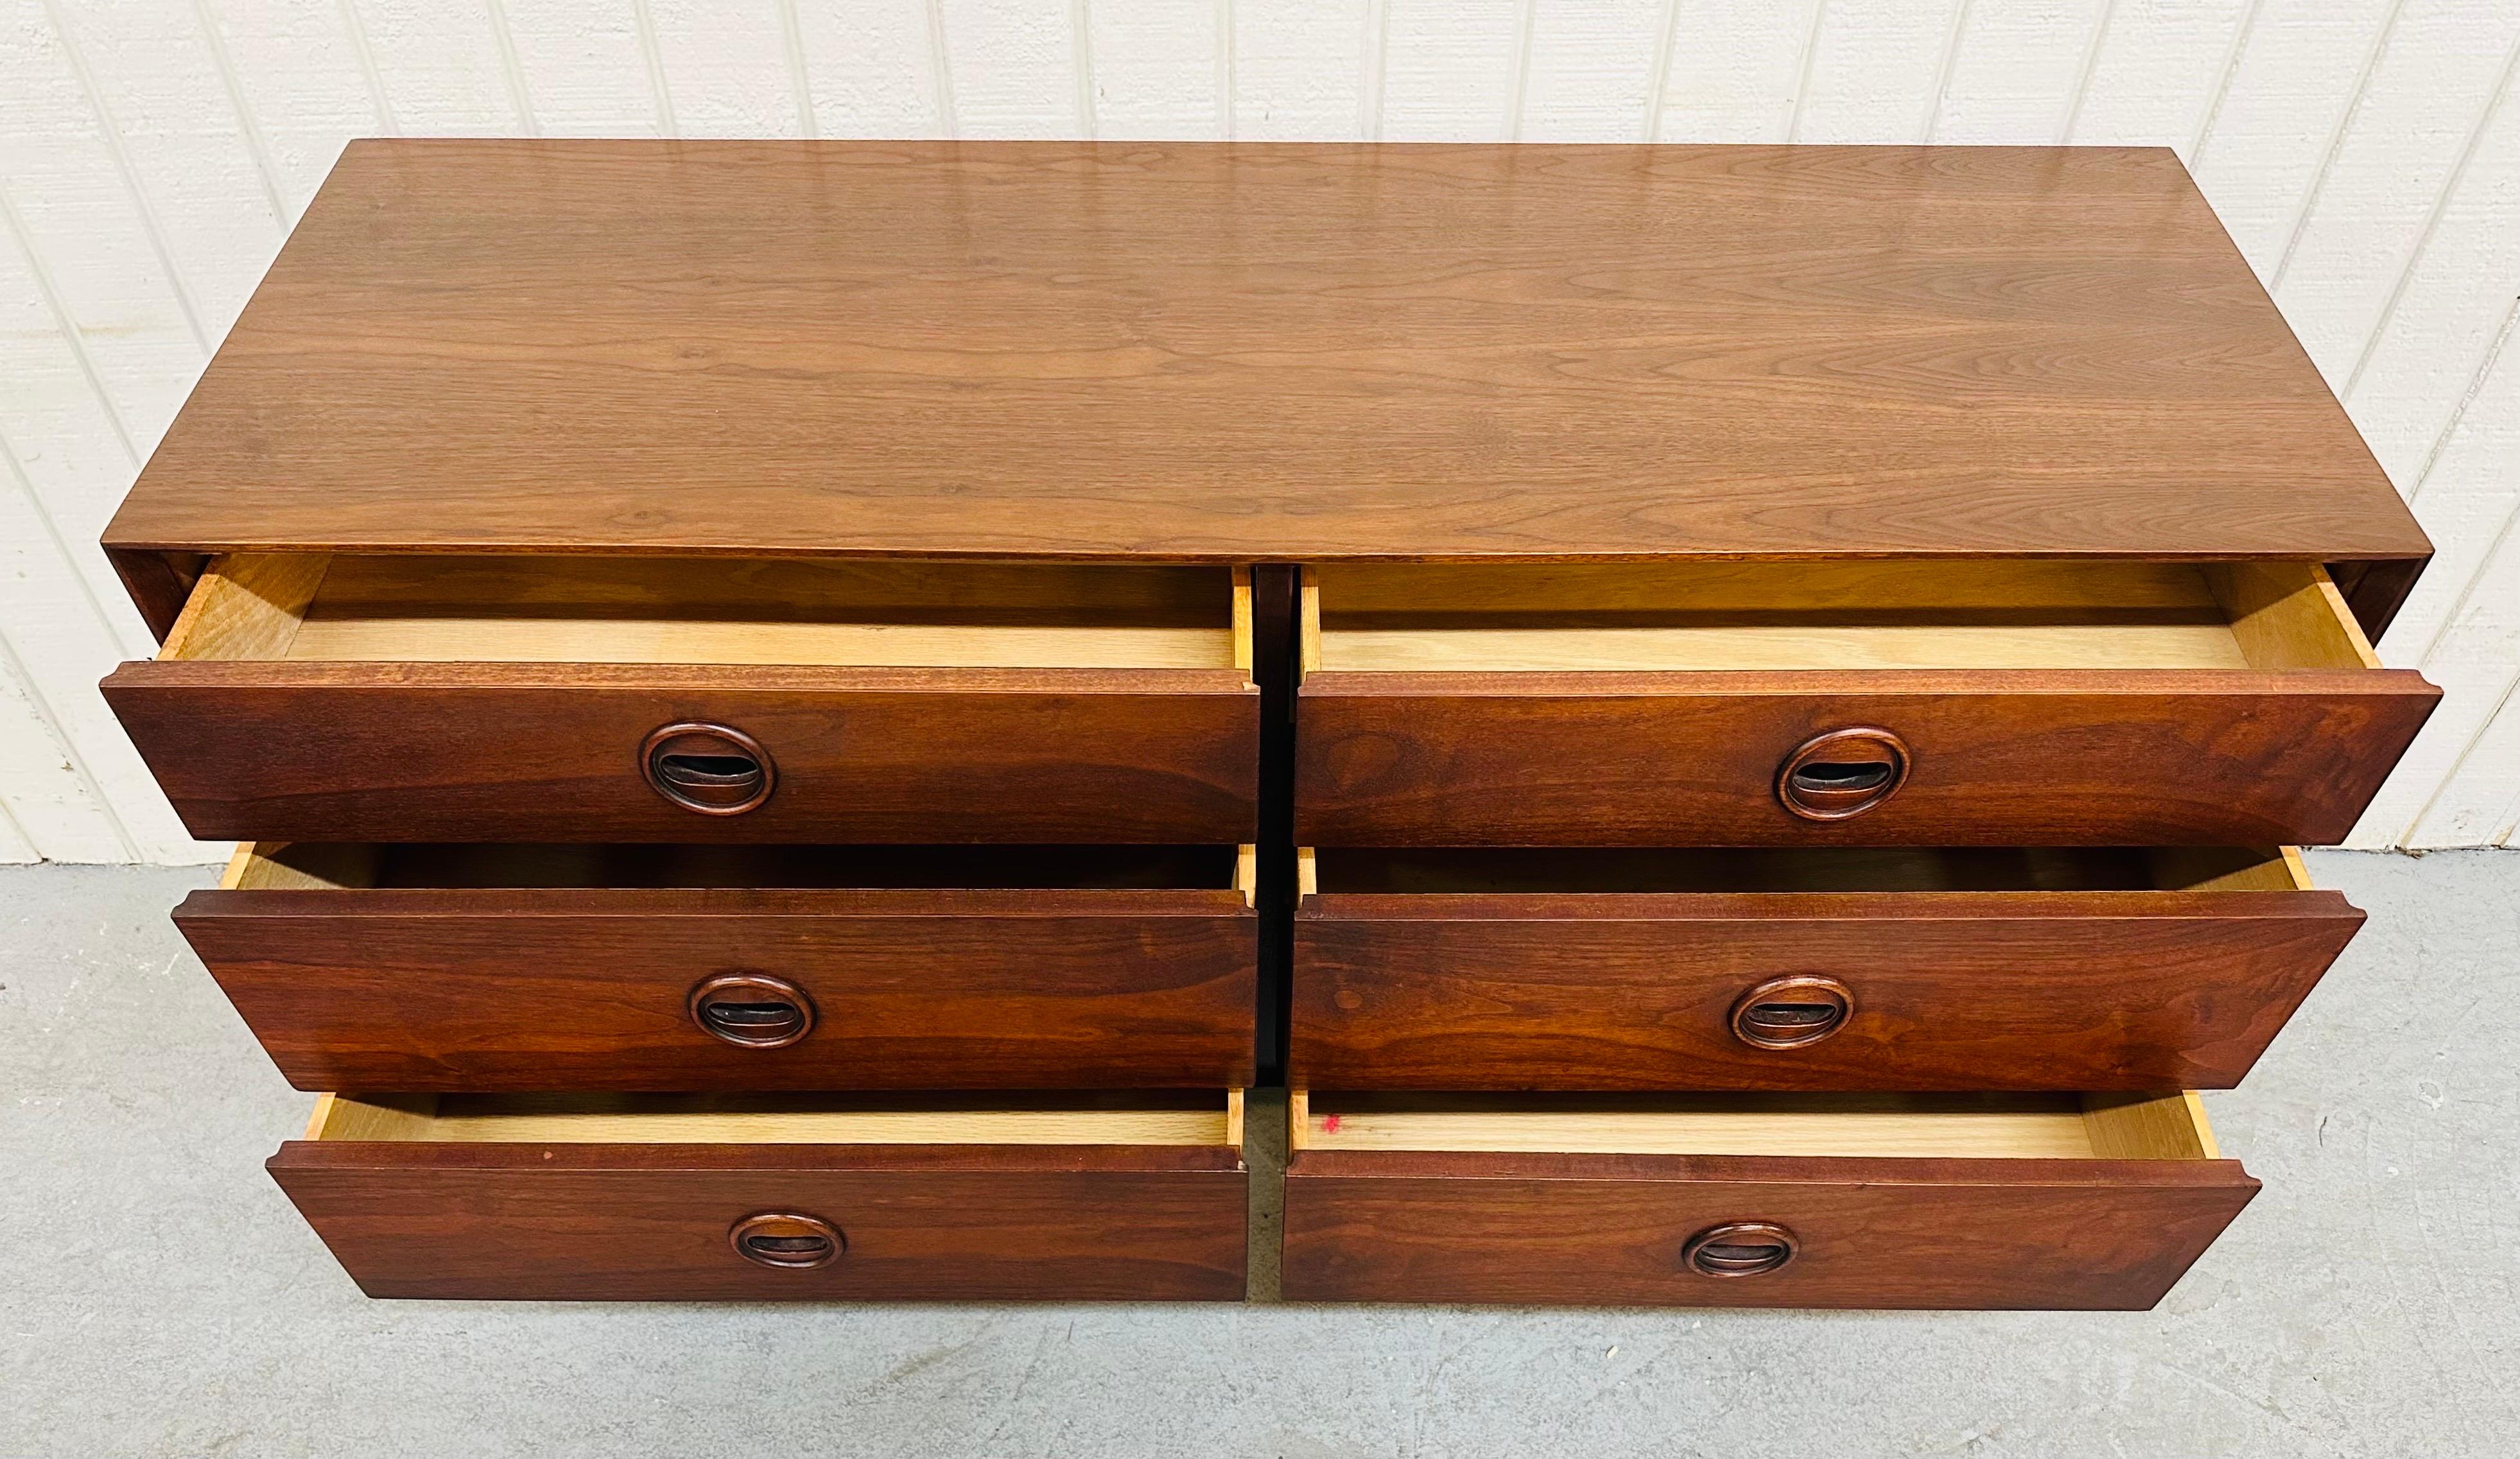
[[[2361, 927], [2336, 892], [1320, 895], [1313, 1089], [2228, 1089]], [[1804, 1048], [1731, 1008], [1822, 973]]]

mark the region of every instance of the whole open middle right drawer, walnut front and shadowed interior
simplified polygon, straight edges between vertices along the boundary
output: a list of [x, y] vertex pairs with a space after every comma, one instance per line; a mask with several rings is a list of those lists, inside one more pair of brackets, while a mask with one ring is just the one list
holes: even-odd
[[2293, 849], [1323, 849], [1323, 1089], [2228, 1089], [2364, 915]]

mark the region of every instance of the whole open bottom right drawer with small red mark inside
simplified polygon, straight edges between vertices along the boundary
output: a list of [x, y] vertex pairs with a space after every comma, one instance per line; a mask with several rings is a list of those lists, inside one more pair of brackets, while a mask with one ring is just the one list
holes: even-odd
[[1290, 1101], [1283, 1290], [2150, 1308], [2258, 1192], [2192, 1094]]

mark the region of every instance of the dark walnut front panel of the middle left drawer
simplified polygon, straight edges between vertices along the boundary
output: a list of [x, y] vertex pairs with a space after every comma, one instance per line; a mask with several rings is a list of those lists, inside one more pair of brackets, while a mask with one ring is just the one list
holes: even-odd
[[[1237, 892], [244, 890], [176, 927], [297, 1089], [1240, 1089]], [[771, 973], [786, 1048], [693, 1023]]]

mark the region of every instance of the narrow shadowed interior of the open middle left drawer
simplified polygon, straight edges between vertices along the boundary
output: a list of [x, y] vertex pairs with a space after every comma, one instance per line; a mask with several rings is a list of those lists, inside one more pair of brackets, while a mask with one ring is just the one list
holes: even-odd
[[219, 890], [1235, 890], [1250, 905], [1252, 874], [1252, 847], [247, 842]]

